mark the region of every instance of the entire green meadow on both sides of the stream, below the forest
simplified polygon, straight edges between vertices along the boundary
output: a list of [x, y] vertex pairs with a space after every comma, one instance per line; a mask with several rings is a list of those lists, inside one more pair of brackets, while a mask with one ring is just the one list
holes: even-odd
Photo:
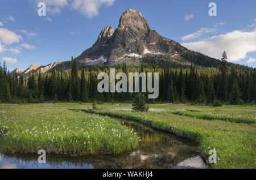
[[[131, 104], [60, 103], [0, 105], [1, 152], [86, 155], [121, 153], [139, 137], [111, 117], [138, 121], [197, 144], [209, 168], [256, 168], [255, 106], [150, 105], [133, 112]], [[208, 162], [215, 149], [217, 163]]]

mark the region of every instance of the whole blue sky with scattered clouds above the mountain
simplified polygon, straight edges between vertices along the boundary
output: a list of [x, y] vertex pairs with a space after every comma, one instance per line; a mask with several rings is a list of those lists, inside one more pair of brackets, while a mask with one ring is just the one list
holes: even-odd
[[[46, 2], [47, 16], [38, 16], [39, 2]], [[210, 2], [217, 16], [209, 16]], [[215, 58], [226, 50], [230, 62], [256, 67], [255, 7], [255, 0], [2, 0], [0, 61], [9, 70], [69, 61], [134, 8], [166, 38]]]

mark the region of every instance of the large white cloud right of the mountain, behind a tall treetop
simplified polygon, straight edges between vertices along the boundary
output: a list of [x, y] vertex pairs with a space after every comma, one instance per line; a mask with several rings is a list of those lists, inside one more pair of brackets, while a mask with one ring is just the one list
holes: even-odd
[[237, 62], [247, 57], [247, 53], [256, 52], [256, 28], [251, 32], [233, 31], [207, 40], [183, 43], [188, 49], [221, 58], [222, 52], [228, 52], [230, 62]]

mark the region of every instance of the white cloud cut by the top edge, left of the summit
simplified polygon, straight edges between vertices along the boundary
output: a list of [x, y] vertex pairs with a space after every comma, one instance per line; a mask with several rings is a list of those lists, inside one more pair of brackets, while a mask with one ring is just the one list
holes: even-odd
[[71, 7], [80, 11], [84, 16], [93, 18], [98, 15], [102, 5], [112, 6], [115, 0], [73, 0]]

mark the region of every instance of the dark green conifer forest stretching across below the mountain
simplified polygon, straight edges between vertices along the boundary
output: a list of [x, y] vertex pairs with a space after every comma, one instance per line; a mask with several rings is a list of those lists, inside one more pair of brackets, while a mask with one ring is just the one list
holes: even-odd
[[[212, 104], [214, 100], [225, 104], [254, 104], [256, 93], [256, 69], [233, 66], [226, 57], [218, 67], [201, 67], [185, 63], [153, 61], [148, 56], [142, 59], [141, 67], [126, 64], [111, 66], [118, 72], [159, 72], [159, 97], [162, 102], [182, 102]], [[98, 93], [97, 75], [109, 74], [110, 66], [88, 66], [77, 69], [72, 58], [70, 72], [40, 71], [23, 78], [16, 73], [7, 72], [5, 63], [0, 66], [0, 101], [42, 103], [45, 101], [131, 101], [135, 93]], [[146, 93], [147, 94], [147, 93]], [[147, 96], [145, 96], [147, 98]]]

